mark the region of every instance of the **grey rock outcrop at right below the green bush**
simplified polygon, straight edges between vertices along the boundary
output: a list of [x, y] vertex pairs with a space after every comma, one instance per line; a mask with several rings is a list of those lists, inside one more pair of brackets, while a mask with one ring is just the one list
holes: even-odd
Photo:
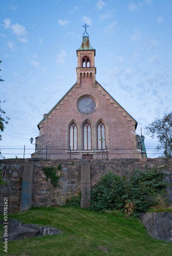
[[151, 237], [172, 242], [171, 212], [141, 213], [140, 220], [147, 228]]

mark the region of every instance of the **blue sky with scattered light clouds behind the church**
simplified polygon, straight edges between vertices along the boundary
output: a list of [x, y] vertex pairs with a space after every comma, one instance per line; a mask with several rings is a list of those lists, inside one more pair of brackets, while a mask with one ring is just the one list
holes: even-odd
[[[76, 82], [85, 22], [96, 80], [138, 122], [136, 133], [171, 111], [170, 0], [3, 0], [0, 12], [1, 108], [10, 117], [0, 145], [29, 145], [43, 114]], [[145, 145], [157, 139], [145, 136]]]

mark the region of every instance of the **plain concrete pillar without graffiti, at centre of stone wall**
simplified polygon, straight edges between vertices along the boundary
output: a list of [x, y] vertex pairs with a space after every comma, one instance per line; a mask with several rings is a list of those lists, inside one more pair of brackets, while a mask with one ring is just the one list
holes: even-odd
[[90, 206], [90, 195], [86, 194], [90, 192], [90, 164], [81, 164], [81, 208], [88, 208]]

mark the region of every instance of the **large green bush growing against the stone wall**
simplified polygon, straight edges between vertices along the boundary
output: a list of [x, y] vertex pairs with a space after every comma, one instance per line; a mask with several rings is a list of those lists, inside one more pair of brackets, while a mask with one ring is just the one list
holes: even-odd
[[167, 166], [155, 165], [145, 171], [134, 169], [122, 177], [108, 172], [91, 190], [90, 209], [114, 210], [120, 209], [127, 217], [138, 216], [139, 211], [147, 211], [156, 201], [152, 195], [160, 193], [168, 182], [162, 181], [167, 176], [164, 170]]

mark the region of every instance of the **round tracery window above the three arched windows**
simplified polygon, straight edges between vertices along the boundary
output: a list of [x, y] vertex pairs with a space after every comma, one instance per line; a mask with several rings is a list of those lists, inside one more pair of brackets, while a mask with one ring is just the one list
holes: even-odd
[[78, 108], [82, 113], [92, 113], [96, 108], [96, 103], [93, 99], [85, 97], [79, 101]]

